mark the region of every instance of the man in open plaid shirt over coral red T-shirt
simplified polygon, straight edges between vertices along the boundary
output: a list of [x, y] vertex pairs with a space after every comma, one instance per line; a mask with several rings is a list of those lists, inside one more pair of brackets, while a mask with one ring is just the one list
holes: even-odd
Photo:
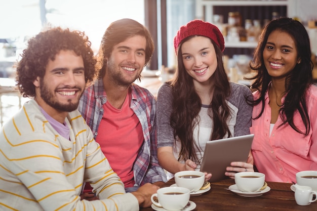
[[[111, 23], [97, 56], [98, 79], [85, 90], [78, 107], [127, 192], [167, 181], [157, 161], [155, 98], [134, 83], [153, 51], [151, 35], [142, 24], [131, 19]], [[86, 184], [84, 192], [90, 190]]]

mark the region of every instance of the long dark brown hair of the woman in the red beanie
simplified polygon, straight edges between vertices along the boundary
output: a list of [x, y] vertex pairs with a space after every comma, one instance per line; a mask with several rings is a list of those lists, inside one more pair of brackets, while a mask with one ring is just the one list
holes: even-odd
[[[198, 123], [197, 116], [202, 108], [202, 101], [194, 90], [193, 79], [185, 70], [181, 46], [192, 38], [185, 38], [178, 47], [177, 62], [178, 69], [175, 77], [169, 81], [172, 87], [172, 113], [171, 126], [174, 129], [175, 141], [181, 142], [181, 149], [178, 160], [192, 159], [200, 163], [197, 158], [194, 148], [197, 147], [193, 138], [193, 128]], [[217, 55], [217, 69], [212, 77], [214, 79], [212, 102], [208, 109], [209, 116], [213, 119], [213, 128], [211, 140], [221, 139], [226, 134], [231, 136], [226, 120], [230, 115], [230, 108], [226, 104], [226, 98], [230, 94], [230, 85], [228, 77], [223, 67], [222, 52], [219, 47], [211, 40]], [[212, 78], [210, 78], [212, 79]], [[211, 92], [210, 91], [210, 92]]]

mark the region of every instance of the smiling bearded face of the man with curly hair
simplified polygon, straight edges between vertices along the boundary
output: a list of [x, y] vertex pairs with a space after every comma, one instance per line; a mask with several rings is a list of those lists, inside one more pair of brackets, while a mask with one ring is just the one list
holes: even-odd
[[33, 84], [35, 100], [53, 118], [75, 110], [86, 84], [82, 56], [60, 51], [54, 61], [49, 60], [44, 77], [37, 77]]

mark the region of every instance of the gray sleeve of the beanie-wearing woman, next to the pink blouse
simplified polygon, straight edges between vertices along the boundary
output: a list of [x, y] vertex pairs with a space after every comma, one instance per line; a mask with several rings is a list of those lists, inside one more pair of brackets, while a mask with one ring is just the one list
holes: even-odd
[[247, 103], [246, 98], [252, 99], [252, 92], [247, 86], [239, 83], [230, 82], [230, 87], [229, 102], [238, 108], [234, 136], [248, 135], [251, 127], [252, 106]]

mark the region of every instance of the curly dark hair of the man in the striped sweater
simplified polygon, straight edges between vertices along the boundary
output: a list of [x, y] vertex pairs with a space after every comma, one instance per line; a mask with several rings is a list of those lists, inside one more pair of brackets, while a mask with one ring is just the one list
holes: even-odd
[[96, 59], [91, 49], [88, 36], [81, 31], [70, 31], [60, 27], [49, 28], [38, 33], [28, 41], [23, 50], [22, 59], [17, 66], [17, 87], [23, 97], [34, 97], [33, 81], [43, 78], [49, 60], [55, 60], [56, 54], [62, 50], [74, 51], [82, 56], [85, 67], [85, 81], [92, 82], [95, 77]]

